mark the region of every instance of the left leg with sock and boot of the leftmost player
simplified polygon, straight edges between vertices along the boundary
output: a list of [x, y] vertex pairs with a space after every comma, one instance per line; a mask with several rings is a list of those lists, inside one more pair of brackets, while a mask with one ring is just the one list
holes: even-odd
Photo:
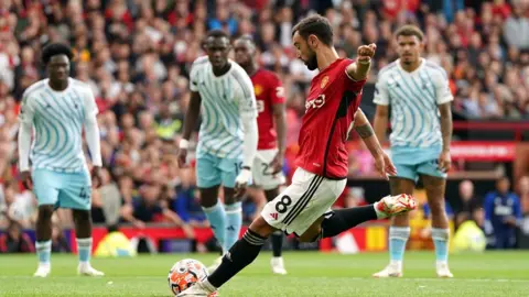
[[52, 270], [50, 257], [52, 254], [52, 216], [53, 206], [42, 205], [39, 207], [36, 218], [36, 254], [39, 255], [39, 267], [33, 276], [46, 277]]

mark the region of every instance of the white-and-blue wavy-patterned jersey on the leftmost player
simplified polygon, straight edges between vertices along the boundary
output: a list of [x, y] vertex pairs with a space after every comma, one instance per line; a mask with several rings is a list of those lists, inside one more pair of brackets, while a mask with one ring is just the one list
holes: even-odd
[[97, 113], [90, 87], [79, 80], [69, 78], [63, 91], [53, 90], [48, 79], [31, 85], [19, 114], [21, 122], [33, 124], [31, 166], [58, 172], [85, 169], [83, 124]]

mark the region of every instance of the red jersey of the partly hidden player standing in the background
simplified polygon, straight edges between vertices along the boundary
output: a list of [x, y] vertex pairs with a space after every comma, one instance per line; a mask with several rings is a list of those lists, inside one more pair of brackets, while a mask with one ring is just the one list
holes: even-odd
[[278, 135], [273, 123], [272, 106], [284, 103], [284, 90], [279, 77], [269, 70], [258, 69], [251, 77], [257, 100], [257, 125], [259, 144], [257, 150], [271, 150], [278, 146]]

